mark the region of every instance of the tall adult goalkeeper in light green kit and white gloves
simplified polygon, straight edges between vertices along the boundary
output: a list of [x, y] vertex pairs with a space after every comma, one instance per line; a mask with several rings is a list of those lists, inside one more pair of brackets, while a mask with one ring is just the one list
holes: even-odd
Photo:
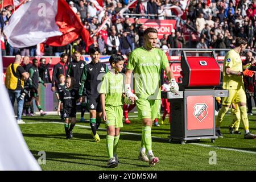
[[[143, 33], [144, 44], [130, 53], [126, 67], [125, 93], [127, 98], [131, 93], [131, 74], [134, 74], [134, 91], [138, 119], [142, 120], [142, 140], [139, 160], [155, 166], [159, 159], [152, 152], [151, 127], [155, 118], [160, 118], [160, 74], [162, 69], [166, 72], [170, 81], [170, 91], [179, 92], [174, 74], [170, 69], [166, 53], [155, 48], [158, 40], [158, 31], [155, 28], [147, 28]], [[135, 97], [135, 99], [137, 99]]]

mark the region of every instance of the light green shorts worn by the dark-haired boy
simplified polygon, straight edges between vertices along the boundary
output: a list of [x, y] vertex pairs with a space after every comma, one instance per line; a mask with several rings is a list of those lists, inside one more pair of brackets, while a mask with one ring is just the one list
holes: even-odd
[[123, 106], [105, 106], [108, 121], [106, 127], [115, 126], [123, 127]]

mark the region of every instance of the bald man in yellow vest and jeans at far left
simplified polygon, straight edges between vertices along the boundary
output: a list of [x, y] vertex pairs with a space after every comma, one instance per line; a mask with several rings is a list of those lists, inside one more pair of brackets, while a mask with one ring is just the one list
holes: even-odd
[[27, 80], [29, 75], [25, 72], [24, 68], [20, 66], [22, 57], [20, 55], [15, 56], [15, 61], [10, 64], [6, 69], [5, 86], [8, 89], [11, 104], [14, 106], [15, 99], [18, 103], [17, 111], [17, 123], [24, 123], [22, 121], [22, 110], [24, 100], [20, 99], [20, 94], [24, 88], [24, 80]]

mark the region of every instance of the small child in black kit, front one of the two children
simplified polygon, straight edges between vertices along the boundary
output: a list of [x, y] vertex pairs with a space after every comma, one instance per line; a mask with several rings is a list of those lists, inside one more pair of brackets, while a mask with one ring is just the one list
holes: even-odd
[[[67, 77], [65, 80], [66, 88], [63, 89], [60, 93], [60, 100], [58, 104], [57, 112], [60, 113], [60, 105], [61, 102], [63, 103], [63, 117], [65, 119], [65, 133], [66, 138], [71, 139], [73, 137], [72, 130], [76, 125], [76, 101], [78, 99], [76, 95], [76, 90], [73, 89], [74, 85], [74, 78], [73, 77]], [[69, 120], [71, 118], [71, 121]], [[69, 123], [71, 122], [71, 125], [69, 127]]]

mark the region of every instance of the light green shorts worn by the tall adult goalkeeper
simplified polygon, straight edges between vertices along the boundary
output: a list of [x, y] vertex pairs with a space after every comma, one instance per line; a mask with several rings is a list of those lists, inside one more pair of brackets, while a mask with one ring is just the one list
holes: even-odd
[[153, 121], [155, 118], [160, 118], [161, 100], [147, 100], [145, 98], [139, 98], [136, 101], [138, 110], [138, 119], [151, 118]]

